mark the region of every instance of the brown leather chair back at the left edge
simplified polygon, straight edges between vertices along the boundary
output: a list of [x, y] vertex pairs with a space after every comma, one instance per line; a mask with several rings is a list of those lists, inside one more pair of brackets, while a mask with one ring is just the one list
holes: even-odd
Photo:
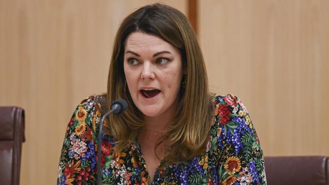
[[19, 184], [24, 141], [24, 110], [0, 107], [0, 184]]

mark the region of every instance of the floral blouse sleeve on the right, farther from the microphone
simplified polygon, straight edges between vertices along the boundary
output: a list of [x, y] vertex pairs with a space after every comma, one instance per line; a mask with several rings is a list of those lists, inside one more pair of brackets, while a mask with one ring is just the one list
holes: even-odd
[[218, 181], [220, 184], [267, 184], [263, 151], [246, 108], [232, 95], [215, 101]]

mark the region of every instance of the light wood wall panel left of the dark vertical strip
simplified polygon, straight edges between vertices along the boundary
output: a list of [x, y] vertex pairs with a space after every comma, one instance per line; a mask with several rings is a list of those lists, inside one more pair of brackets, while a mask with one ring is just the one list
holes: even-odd
[[67, 123], [84, 98], [106, 91], [119, 23], [155, 2], [0, 0], [0, 106], [25, 109], [21, 184], [56, 183]]

